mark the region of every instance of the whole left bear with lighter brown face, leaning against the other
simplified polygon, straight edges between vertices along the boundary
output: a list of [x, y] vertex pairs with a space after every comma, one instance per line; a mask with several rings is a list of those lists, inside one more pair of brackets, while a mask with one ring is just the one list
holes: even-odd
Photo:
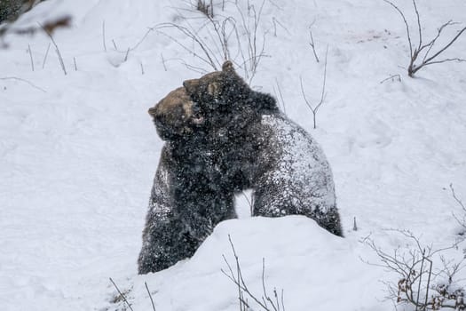
[[160, 271], [194, 254], [218, 222], [236, 217], [234, 194], [216, 182], [204, 118], [184, 87], [149, 109], [167, 140], [154, 177], [138, 273]]

